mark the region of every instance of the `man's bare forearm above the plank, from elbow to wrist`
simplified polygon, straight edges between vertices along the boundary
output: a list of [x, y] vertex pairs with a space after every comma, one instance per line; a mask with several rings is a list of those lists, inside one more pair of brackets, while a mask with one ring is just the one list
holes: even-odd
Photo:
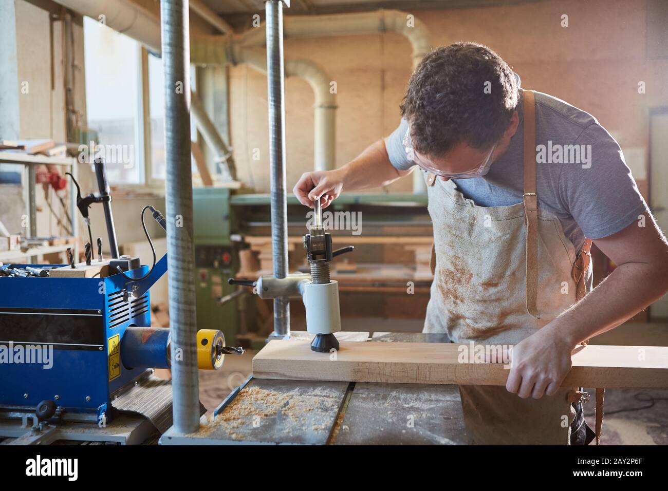
[[573, 347], [609, 331], [661, 298], [668, 290], [666, 273], [649, 263], [620, 265], [584, 299], [548, 326]]

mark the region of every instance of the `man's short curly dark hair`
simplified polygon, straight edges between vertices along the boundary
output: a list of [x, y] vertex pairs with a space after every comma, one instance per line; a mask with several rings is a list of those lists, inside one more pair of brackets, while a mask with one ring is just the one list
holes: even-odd
[[442, 156], [460, 142], [490, 148], [508, 128], [517, 102], [508, 63], [486, 46], [454, 43], [422, 59], [400, 107], [413, 148]]

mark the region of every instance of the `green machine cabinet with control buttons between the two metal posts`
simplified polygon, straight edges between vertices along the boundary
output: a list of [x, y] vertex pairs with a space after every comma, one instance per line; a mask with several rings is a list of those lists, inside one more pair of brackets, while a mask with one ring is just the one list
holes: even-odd
[[[228, 346], [236, 345], [239, 326], [234, 285], [227, 280], [239, 269], [238, 242], [232, 241], [236, 218], [228, 188], [193, 188], [197, 329], [218, 329]], [[227, 297], [230, 298], [230, 297]]]

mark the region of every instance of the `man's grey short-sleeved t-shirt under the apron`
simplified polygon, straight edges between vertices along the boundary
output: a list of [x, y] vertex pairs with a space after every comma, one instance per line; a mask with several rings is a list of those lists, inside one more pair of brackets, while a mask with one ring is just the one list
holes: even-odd
[[[478, 206], [509, 206], [522, 201], [521, 100], [520, 94], [520, 126], [488, 174], [453, 180]], [[386, 141], [389, 160], [399, 170], [413, 166], [402, 144], [407, 130], [402, 119]], [[536, 92], [536, 147], [538, 206], [559, 218], [564, 234], [576, 248], [585, 236], [596, 239], [619, 232], [647, 209], [619, 145], [591, 114]]]

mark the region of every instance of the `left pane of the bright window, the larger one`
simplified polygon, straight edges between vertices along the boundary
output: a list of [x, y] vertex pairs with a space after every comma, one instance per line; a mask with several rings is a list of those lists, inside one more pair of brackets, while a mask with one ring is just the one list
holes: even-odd
[[83, 17], [88, 127], [98, 133], [110, 182], [142, 184], [141, 47]]

